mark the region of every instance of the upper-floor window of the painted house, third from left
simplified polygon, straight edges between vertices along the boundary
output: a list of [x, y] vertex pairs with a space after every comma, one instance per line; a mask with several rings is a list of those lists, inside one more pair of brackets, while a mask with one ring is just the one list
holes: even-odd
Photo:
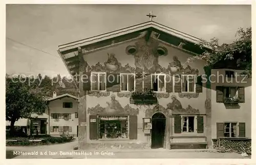
[[165, 74], [152, 74], [151, 75], [151, 87], [156, 92], [165, 92]]

